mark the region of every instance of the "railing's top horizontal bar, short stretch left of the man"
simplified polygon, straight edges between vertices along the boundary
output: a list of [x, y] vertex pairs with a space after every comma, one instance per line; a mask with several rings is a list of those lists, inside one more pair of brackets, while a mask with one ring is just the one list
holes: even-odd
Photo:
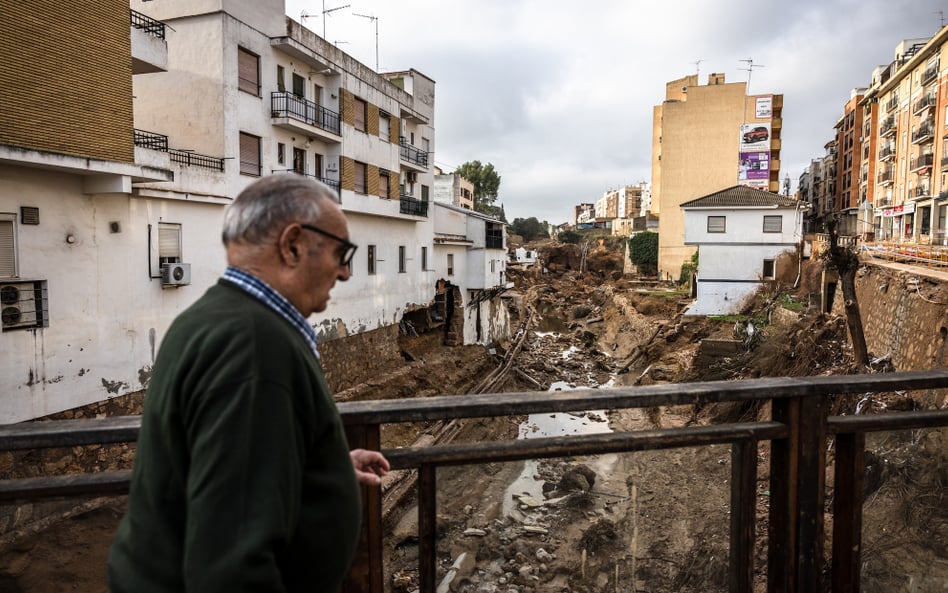
[[0, 426], [0, 451], [45, 449], [138, 439], [141, 416], [22, 422]]

